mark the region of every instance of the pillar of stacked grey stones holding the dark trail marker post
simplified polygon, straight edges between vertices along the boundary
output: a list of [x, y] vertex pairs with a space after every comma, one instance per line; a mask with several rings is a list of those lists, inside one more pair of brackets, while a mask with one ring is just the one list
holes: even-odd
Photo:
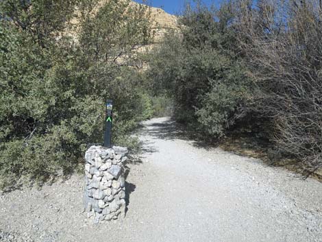
[[92, 146], [85, 154], [84, 209], [95, 223], [125, 215], [127, 148]]

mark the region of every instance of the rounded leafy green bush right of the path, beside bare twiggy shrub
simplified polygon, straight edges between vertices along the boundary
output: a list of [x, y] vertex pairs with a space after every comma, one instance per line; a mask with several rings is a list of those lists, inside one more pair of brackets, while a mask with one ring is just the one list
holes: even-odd
[[225, 9], [214, 15], [203, 5], [188, 5], [181, 32], [168, 34], [151, 54], [154, 89], [172, 95], [177, 121], [194, 125], [206, 136], [223, 136], [249, 92], [245, 68], [234, 57], [229, 16]]

